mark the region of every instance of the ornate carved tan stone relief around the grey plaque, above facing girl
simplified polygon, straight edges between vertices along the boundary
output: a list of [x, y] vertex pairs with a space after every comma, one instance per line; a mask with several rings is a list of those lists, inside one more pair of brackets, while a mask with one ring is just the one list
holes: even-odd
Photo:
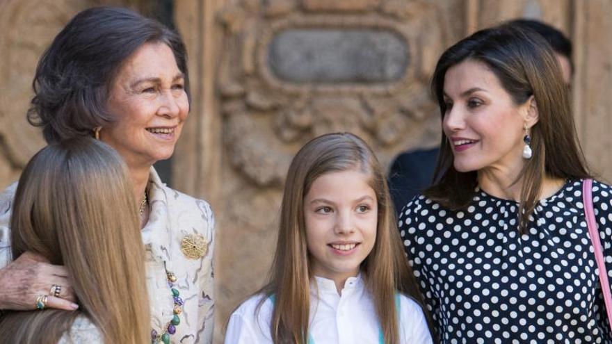
[[[444, 20], [437, 8], [424, 1], [303, 0], [301, 4], [251, 0], [218, 16], [228, 34], [218, 88], [233, 168], [259, 187], [278, 188], [297, 147], [322, 133], [357, 133], [371, 143], [383, 163], [403, 149], [437, 142], [431, 133], [406, 137], [419, 132], [412, 130], [415, 127], [424, 129], [431, 127], [426, 122], [439, 121], [427, 96], [433, 63], [446, 45]], [[333, 49], [325, 45], [333, 43], [331, 35], [351, 40], [343, 43], [348, 44], [346, 49], [358, 47], [363, 54], [378, 44], [376, 54], [393, 60], [385, 64], [366, 57], [366, 68], [394, 69], [366, 71], [371, 74], [360, 79], [355, 77], [359, 66], [344, 68], [339, 65], [343, 58], [332, 51], [327, 54], [331, 63], [315, 63], [310, 70], [328, 68], [328, 75], [304, 74], [309, 69], [300, 63], [309, 54], [316, 59], [321, 56], [319, 48]], [[300, 44], [300, 39], [310, 40], [309, 45]], [[366, 41], [370, 43], [363, 44]], [[300, 54], [291, 55], [296, 49]], [[291, 65], [289, 55], [297, 64]]]

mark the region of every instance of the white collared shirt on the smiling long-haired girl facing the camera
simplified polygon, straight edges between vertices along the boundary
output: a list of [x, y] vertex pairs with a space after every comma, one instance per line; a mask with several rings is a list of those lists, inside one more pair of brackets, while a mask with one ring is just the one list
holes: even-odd
[[[346, 280], [341, 295], [334, 281], [315, 277], [311, 284], [309, 334], [316, 344], [378, 344], [380, 325], [370, 293], [360, 276]], [[268, 298], [255, 314], [263, 295], [250, 297], [232, 313], [225, 344], [272, 343], [270, 321], [273, 301]], [[401, 343], [432, 343], [421, 307], [409, 297], [400, 297]]]

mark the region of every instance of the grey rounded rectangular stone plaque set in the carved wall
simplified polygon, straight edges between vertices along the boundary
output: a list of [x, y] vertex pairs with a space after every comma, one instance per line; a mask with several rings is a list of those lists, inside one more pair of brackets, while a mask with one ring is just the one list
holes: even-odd
[[289, 83], [390, 83], [408, 63], [408, 42], [375, 28], [289, 28], [268, 46], [268, 67]]

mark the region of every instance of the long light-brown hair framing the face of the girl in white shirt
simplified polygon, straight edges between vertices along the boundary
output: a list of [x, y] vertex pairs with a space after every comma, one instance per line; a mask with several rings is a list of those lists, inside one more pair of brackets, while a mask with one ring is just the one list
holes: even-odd
[[395, 293], [408, 295], [422, 305], [421, 294], [403, 252], [385, 175], [376, 156], [366, 142], [351, 133], [319, 136], [298, 151], [289, 167], [271, 281], [260, 290], [264, 295], [275, 295], [271, 320], [274, 343], [307, 342], [308, 290], [313, 275], [306, 244], [304, 197], [312, 183], [323, 174], [352, 169], [369, 176], [369, 186], [376, 193], [378, 203], [376, 243], [362, 262], [361, 271], [366, 288], [373, 296], [385, 343], [399, 343], [400, 340]]

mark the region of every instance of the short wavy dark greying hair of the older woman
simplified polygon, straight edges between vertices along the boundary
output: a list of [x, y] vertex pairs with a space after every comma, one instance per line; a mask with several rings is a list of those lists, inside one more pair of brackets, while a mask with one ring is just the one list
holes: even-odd
[[145, 43], [172, 49], [189, 96], [187, 54], [177, 33], [127, 8], [95, 7], [74, 16], [42, 55], [33, 81], [28, 121], [48, 143], [90, 136], [115, 121], [106, 103], [113, 80]]

